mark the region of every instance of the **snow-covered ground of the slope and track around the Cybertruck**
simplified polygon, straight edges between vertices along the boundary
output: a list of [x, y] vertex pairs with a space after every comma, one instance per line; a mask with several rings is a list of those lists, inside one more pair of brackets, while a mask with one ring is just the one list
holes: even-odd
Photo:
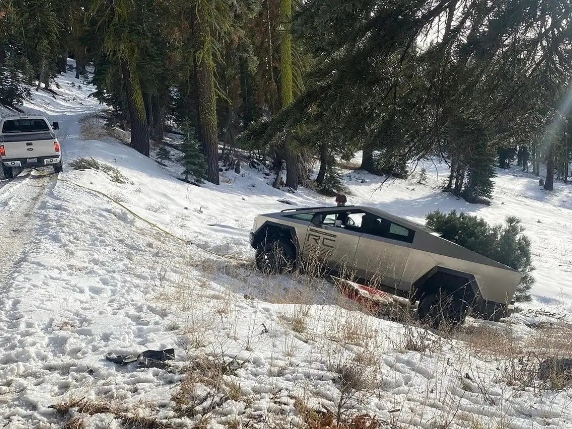
[[[519, 313], [442, 337], [352, 309], [321, 280], [261, 276], [248, 245], [254, 217], [291, 207], [283, 198], [331, 198], [276, 190], [245, 165], [221, 173], [220, 186], [188, 185], [173, 162], [105, 136], [93, 88], [73, 73], [58, 84], [59, 96], [33, 91], [24, 108], [59, 121], [68, 164], [93, 157], [117, 168], [121, 183], [68, 165], [57, 178], [33, 172], [0, 188], [2, 427], [76, 418], [120, 428], [143, 417], [150, 427], [327, 427], [311, 422], [328, 412], [345, 422], [375, 416], [380, 428], [572, 427], [572, 391], [539, 382], [541, 357], [531, 355], [571, 352], [569, 325]], [[470, 205], [439, 191], [446, 168], [424, 167], [426, 185], [380, 186], [348, 170], [349, 202], [420, 223], [435, 209], [490, 222], [519, 216], [537, 267], [526, 309], [567, 317], [572, 185], [545, 192], [530, 174], [499, 171], [492, 205]], [[529, 327], [540, 320], [553, 324]], [[104, 358], [170, 347], [176, 361], [166, 369]], [[66, 414], [54, 405], [76, 406]]]

